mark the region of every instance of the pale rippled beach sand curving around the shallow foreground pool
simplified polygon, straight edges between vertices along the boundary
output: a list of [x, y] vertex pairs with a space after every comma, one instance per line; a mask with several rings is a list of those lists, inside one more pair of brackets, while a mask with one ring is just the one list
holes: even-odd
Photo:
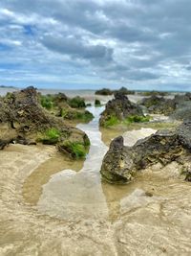
[[108, 218], [66, 221], [22, 196], [26, 178], [54, 153], [22, 145], [0, 151], [0, 255], [190, 255], [191, 184], [179, 180], [175, 163], [147, 170], [128, 186], [103, 183]]

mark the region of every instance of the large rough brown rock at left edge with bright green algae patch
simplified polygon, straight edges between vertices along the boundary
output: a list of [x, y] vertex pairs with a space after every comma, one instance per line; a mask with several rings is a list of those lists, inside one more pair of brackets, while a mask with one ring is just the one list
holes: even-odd
[[[63, 101], [63, 95], [56, 100]], [[9, 143], [29, 145], [39, 141], [56, 144], [58, 149], [68, 147], [69, 142], [84, 148], [90, 144], [83, 131], [66, 126], [63, 118], [55, 117], [43, 108], [32, 86], [0, 98], [0, 149]]]

